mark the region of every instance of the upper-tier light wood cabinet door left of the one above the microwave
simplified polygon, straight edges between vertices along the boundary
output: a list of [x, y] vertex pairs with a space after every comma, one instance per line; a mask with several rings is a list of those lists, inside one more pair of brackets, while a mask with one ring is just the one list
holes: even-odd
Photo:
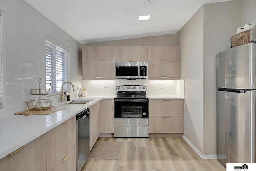
[[115, 46], [82, 46], [82, 62], [115, 62]]

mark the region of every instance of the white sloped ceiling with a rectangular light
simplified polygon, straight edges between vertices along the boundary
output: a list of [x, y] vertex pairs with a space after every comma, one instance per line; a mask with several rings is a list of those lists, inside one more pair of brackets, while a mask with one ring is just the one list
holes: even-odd
[[[202, 4], [230, 0], [25, 1], [79, 42], [90, 43], [174, 34]], [[146, 14], [149, 20], [138, 21]]]

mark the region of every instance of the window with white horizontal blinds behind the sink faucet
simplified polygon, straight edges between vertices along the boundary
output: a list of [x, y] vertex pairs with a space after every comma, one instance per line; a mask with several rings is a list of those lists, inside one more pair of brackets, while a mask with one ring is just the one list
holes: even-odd
[[[68, 50], [67, 50], [68, 49]], [[70, 76], [70, 50], [60, 45], [51, 38], [46, 38], [45, 49], [46, 88], [49, 94], [61, 93], [62, 83], [69, 80]], [[69, 91], [69, 85], [64, 84], [64, 91]]]

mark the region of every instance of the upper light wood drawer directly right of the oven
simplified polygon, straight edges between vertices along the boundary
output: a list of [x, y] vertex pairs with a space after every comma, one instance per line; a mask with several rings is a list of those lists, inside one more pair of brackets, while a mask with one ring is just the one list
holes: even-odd
[[149, 100], [149, 116], [183, 116], [184, 100]]

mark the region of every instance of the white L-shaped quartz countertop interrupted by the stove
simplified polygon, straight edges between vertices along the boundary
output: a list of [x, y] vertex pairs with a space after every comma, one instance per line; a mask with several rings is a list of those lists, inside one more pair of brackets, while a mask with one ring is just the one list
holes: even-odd
[[[76, 99], [92, 99], [86, 104], [70, 104], [65, 101], [56, 107], [64, 107], [64, 109], [56, 111], [49, 115], [9, 115], [0, 118], [0, 159], [9, 155], [16, 149], [26, 145], [30, 141], [40, 137], [44, 133], [50, 131], [54, 127], [60, 125], [64, 121], [74, 117], [84, 109], [94, 105], [100, 100], [114, 99], [115, 96], [88, 96]], [[149, 99], [184, 99], [178, 96], [148, 96]], [[19, 112], [19, 111], [17, 111]]]

